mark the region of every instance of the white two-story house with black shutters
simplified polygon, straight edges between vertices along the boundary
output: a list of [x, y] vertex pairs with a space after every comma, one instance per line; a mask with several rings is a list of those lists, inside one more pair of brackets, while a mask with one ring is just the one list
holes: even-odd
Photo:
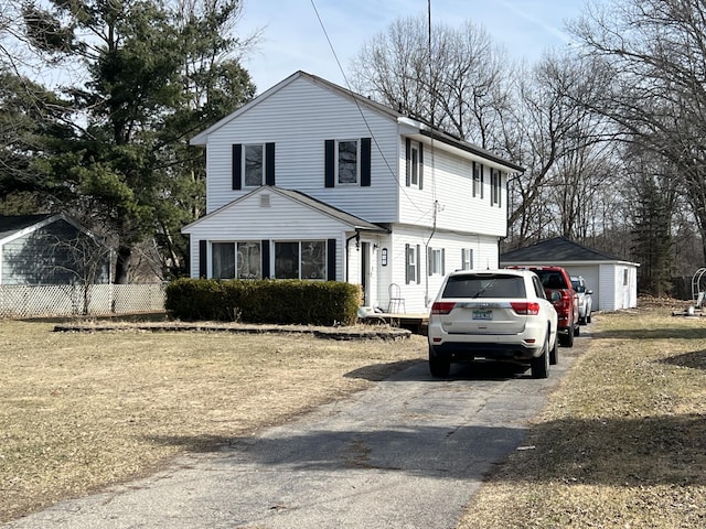
[[347, 281], [384, 312], [428, 312], [447, 271], [499, 266], [522, 171], [303, 72], [191, 143], [206, 148], [193, 278]]

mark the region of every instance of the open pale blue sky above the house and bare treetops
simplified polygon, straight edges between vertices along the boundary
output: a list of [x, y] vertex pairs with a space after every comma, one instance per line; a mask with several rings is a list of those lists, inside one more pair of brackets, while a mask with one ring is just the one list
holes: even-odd
[[[533, 62], [547, 46], [568, 45], [565, 21], [580, 15], [584, 4], [585, 0], [431, 0], [431, 20], [459, 26], [470, 19], [483, 25], [511, 57]], [[364, 42], [398, 18], [427, 17], [427, 0], [245, 0], [238, 32], [263, 29], [245, 67], [258, 93], [298, 69], [345, 86], [336, 56], [347, 74]]]

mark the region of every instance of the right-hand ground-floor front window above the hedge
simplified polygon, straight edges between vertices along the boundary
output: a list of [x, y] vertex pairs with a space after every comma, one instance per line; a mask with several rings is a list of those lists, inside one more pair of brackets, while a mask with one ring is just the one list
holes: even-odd
[[277, 279], [327, 279], [327, 241], [295, 240], [275, 242]]

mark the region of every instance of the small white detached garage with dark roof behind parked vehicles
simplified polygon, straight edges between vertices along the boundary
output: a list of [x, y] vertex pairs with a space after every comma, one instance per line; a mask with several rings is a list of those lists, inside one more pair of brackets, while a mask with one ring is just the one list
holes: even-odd
[[571, 276], [582, 276], [593, 291], [593, 310], [617, 311], [638, 306], [639, 263], [588, 248], [566, 237], [546, 239], [502, 253], [500, 263], [502, 267], [564, 267]]

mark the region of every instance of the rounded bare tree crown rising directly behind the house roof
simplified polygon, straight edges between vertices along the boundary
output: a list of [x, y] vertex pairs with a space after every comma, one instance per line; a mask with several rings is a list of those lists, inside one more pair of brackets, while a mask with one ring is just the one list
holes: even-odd
[[507, 107], [506, 68], [483, 28], [435, 24], [429, 35], [428, 21], [417, 17], [365, 43], [351, 78], [357, 91], [491, 149]]

